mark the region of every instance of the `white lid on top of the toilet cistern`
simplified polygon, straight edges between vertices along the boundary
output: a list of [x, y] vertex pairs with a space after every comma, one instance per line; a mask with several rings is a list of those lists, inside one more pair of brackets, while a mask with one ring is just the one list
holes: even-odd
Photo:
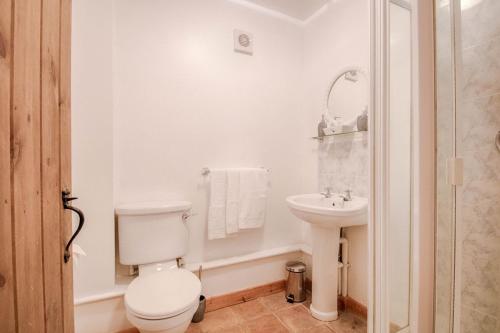
[[191, 209], [189, 201], [149, 201], [120, 204], [115, 208], [117, 215], [152, 215], [185, 212]]

